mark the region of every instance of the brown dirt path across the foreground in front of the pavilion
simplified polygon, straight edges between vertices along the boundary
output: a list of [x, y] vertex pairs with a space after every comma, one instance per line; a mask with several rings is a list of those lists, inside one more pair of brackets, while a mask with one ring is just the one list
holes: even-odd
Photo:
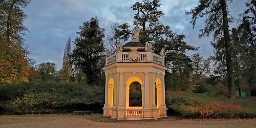
[[256, 127], [256, 119], [116, 121], [101, 115], [15, 115], [0, 116], [0, 127]]

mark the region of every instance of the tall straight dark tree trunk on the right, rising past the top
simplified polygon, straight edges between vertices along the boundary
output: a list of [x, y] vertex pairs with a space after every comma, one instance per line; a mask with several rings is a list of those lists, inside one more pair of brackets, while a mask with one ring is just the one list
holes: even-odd
[[229, 35], [229, 29], [228, 29], [226, 0], [221, 0], [221, 9], [222, 9], [222, 16], [223, 16], [223, 29], [224, 29], [225, 49], [226, 49], [225, 53], [226, 53], [228, 93], [229, 93], [229, 99], [236, 99], [236, 93], [234, 90], [234, 78], [233, 78], [234, 68], [233, 68], [233, 61], [232, 61], [230, 35]]

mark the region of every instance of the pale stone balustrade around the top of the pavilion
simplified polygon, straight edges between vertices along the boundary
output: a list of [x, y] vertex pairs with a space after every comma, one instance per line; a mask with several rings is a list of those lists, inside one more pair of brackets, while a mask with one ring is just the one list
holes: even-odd
[[129, 52], [118, 52], [106, 57], [105, 65], [108, 66], [115, 62], [155, 62], [164, 66], [164, 57], [152, 52], [139, 52], [138, 57], [133, 60]]

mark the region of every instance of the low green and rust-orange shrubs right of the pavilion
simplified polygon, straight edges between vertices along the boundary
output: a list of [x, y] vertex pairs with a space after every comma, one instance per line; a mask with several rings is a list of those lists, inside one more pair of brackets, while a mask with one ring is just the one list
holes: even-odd
[[166, 96], [168, 114], [182, 118], [256, 118], [256, 113], [227, 102], [198, 102], [186, 97]]

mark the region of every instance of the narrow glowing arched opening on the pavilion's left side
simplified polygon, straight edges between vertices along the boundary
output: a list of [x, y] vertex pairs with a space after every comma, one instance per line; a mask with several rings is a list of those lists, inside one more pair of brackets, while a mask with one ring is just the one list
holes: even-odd
[[108, 113], [112, 115], [112, 107], [114, 99], [114, 79], [110, 78], [108, 83]]

